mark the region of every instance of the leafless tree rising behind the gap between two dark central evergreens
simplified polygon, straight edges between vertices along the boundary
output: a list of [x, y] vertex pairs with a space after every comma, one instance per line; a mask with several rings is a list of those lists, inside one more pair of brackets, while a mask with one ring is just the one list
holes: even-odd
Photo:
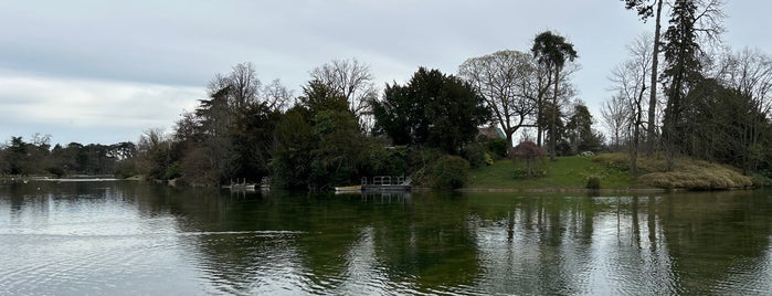
[[369, 65], [356, 59], [334, 60], [314, 68], [310, 76], [345, 96], [360, 126], [370, 129], [372, 116], [369, 102], [378, 97], [378, 91]]

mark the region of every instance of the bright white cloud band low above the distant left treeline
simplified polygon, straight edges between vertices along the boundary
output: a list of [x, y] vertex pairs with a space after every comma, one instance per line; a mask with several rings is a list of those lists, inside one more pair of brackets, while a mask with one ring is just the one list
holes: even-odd
[[[136, 140], [145, 129], [170, 128], [204, 97], [200, 87], [0, 74], [0, 137], [40, 133], [51, 134], [54, 142]], [[57, 139], [59, 133], [73, 139]]]

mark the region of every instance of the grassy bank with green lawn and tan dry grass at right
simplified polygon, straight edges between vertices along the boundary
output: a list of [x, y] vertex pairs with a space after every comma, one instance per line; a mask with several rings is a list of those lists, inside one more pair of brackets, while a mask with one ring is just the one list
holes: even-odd
[[674, 171], [664, 172], [664, 158], [642, 158], [637, 176], [631, 172], [625, 154], [559, 157], [557, 161], [546, 160], [537, 167], [537, 175], [541, 176], [526, 178], [522, 163], [503, 159], [493, 166], [473, 169], [466, 189], [580, 190], [588, 188], [590, 179], [600, 181], [600, 189], [613, 190], [717, 190], [752, 186], [751, 178], [734, 168], [692, 159], [678, 159]]

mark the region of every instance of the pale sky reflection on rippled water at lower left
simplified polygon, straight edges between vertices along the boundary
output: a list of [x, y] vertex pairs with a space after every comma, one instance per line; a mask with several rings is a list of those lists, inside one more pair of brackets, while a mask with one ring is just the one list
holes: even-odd
[[[104, 187], [104, 186], [103, 186]], [[200, 294], [176, 220], [149, 216], [109, 188], [33, 188], [0, 199], [0, 294]], [[40, 192], [38, 192], [40, 191]], [[193, 281], [191, 281], [193, 279]]]

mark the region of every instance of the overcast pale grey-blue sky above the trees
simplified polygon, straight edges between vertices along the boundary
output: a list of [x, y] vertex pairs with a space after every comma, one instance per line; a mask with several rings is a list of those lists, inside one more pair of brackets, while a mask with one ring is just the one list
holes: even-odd
[[[772, 53], [770, 8], [727, 3], [726, 45]], [[625, 45], [653, 31], [617, 0], [0, 1], [0, 142], [136, 141], [242, 62], [296, 95], [310, 70], [341, 59], [369, 64], [382, 86], [419, 66], [456, 73], [469, 57], [528, 52], [544, 30], [574, 43], [573, 82], [593, 113]]]

